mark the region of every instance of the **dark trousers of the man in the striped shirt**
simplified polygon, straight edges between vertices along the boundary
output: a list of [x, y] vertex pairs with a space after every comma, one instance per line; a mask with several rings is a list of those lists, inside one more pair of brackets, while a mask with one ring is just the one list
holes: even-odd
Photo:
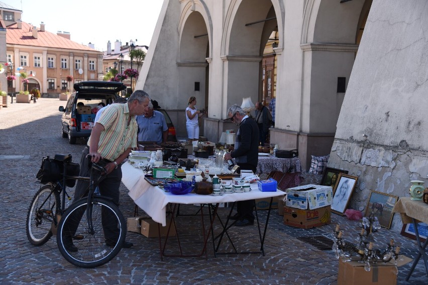
[[[86, 146], [83, 149], [82, 157], [80, 159], [80, 172], [79, 176], [90, 176], [90, 158], [86, 157], [89, 153], [89, 148]], [[107, 161], [105, 161], [107, 162]], [[117, 169], [113, 170], [109, 175], [105, 176], [98, 184], [99, 192], [102, 196], [109, 197], [113, 200], [113, 202], [119, 206], [119, 186], [122, 180], [122, 169], [119, 166]], [[73, 202], [79, 200], [80, 198], [86, 197], [88, 195], [88, 187], [89, 181], [77, 180], [76, 190], [74, 192]], [[83, 209], [83, 208], [82, 208]], [[76, 213], [77, 215], [83, 215], [85, 212], [82, 211], [80, 213]], [[77, 218], [77, 220], [80, 220]], [[102, 228], [104, 230], [104, 236], [106, 240], [111, 240], [116, 242], [119, 237], [119, 228], [116, 219], [109, 218], [108, 215], [105, 214], [103, 209], [101, 209], [101, 221]], [[77, 230], [77, 224], [71, 225], [68, 229], [70, 231], [70, 235], [73, 236]]]

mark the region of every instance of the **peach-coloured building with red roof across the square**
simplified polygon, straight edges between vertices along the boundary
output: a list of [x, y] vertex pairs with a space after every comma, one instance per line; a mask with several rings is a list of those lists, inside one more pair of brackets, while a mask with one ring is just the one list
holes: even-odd
[[[6, 59], [8, 75], [17, 76], [8, 81], [8, 93], [39, 89], [42, 97], [58, 97], [73, 91], [73, 84], [98, 80], [102, 73], [102, 52], [71, 41], [71, 35], [56, 34], [21, 21], [22, 11], [3, 5], [6, 17]], [[28, 76], [28, 85], [22, 84], [20, 73]]]

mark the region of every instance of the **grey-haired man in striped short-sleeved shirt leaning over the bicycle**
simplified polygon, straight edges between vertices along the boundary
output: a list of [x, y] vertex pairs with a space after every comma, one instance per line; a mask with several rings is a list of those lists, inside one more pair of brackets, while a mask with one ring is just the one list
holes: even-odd
[[[107, 173], [98, 184], [100, 194], [110, 197], [119, 206], [119, 186], [122, 180], [122, 162], [128, 157], [131, 149], [137, 147], [137, 121], [135, 117], [147, 112], [150, 96], [136, 90], [126, 104], [112, 104], [106, 108], [92, 128], [87, 145], [80, 160], [79, 176], [90, 176], [89, 161], [104, 165]], [[74, 201], [87, 196], [88, 181], [78, 180], [74, 192]], [[119, 236], [117, 224], [103, 221], [105, 243], [114, 246]], [[74, 230], [75, 231], [75, 230]], [[68, 250], [77, 251], [77, 247], [68, 242]], [[122, 247], [133, 244], [125, 241]]]

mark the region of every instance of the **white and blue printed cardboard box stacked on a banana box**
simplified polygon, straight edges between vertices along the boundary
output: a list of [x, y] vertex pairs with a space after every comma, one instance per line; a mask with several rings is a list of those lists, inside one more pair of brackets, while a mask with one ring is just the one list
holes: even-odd
[[331, 186], [308, 184], [289, 188], [287, 192], [287, 207], [297, 209], [317, 209], [329, 206], [333, 202], [333, 188]]

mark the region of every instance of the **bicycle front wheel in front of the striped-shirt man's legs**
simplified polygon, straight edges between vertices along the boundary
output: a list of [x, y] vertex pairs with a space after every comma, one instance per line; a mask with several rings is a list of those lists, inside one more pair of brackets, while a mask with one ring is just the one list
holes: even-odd
[[[82, 198], [65, 211], [58, 225], [56, 240], [64, 258], [79, 267], [93, 268], [112, 260], [125, 241], [127, 225], [119, 207], [103, 197], [94, 197], [92, 229], [86, 215], [87, 198]], [[105, 236], [115, 232], [115, 240]]]

